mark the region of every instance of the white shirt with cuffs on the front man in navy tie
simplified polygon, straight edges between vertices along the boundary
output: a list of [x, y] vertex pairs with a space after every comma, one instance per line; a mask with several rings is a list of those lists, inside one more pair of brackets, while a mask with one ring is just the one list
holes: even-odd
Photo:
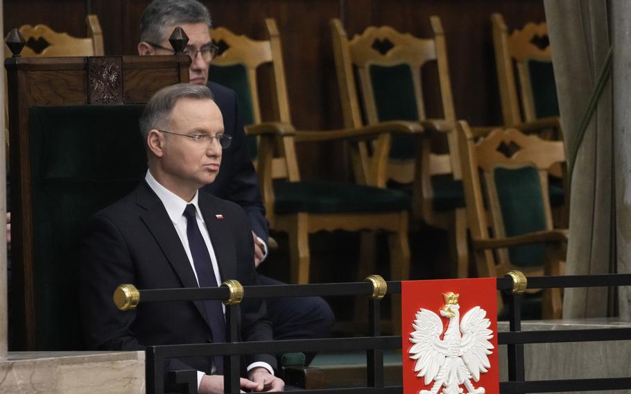
[[[148, 170], [147, 170], [147, 175], [145, 175], [145, 180], [147, 184], [149, 185], [149, 187], [151, 188], [151, 190], [153, 190], [155, 194], [158, 196], [158, 198], [160, 199], [160, 201], [162, 201], [162, 204], [164, 205], [164, 208], [166, 209], [166, 213], [168, 214], [168, 217], [171, 219], [171, 222], [173, 223], [173, 227], [175, 227], [175, 232], [178, 233], [178, 237], [180, 237], [182, 246], [184, 246], [184, 251], [187, 252], [187, 257], [189, 257], [189, 263], [191, 264], [191, 269], [193, 270], [193, 273], [195, 274], [195, 280], [197, 281], [197, 285], [199, 286], [197, 272], [195, 271], [195, 264], [193, 264], [193, 257], [191, 255], [191, 248], [189, 247], [189, 237], [187, 237], [187, 218], [184, 216], [184, 209], [187, 207], [187, 205], [189, 204], [195, 205], [195, 219], [197, 219], [197, 225], [200, 228], [200, 232], [202, 233], [202, 238], [204, 239], [204, 242], [206, 243], [206, 247], [208, 248], [208, 252], [210, 254], [210, 260], [213, 266], [213, 271], [215, 273], [215, 279], [217, 280], [217, 283], [221, 283], [221, 275], [219, 275], [219, 266], [217, 264], [217, 257], [215, 256], [215, 251], [210, 241], [208, 229], [206, 228], [206, 223], [204, 221], [204, 218], [202, 217], [200, 207], [198, 205], [199, 191], [195, 193], [195, 196], [193, 196], [193, 199], [187, 202], [183, 200], [182, 198], [180, 198], [180, 196], [177, 196], [176, 194], [174, 194], [172, 191], [166, 189], [166, 187], [160, 185], [159, 182], [155, 180], [155, 178], [153, 178], [153, 175], [151, 175], [151, 172]], [[221, 307], [225, 314], [225, 305], [223, 305], [223, 303]], [[251, 363], [247, 369], [249, 371], [252, 368], [256, 368], [256, 367], [263, 367], [266, 370], [270, 371], [272, 375], [274, 375], [274, 370], [272, 366], [262, 361]], [[212, 367], [212, 372], [214, 371], [215, 371], [215, 366]], [[201, 371], [197, 372], [198, 388], [202, 382], [202, 377], [204, 377], [204, 375], [205, 375], [204, 372], [201, 372]]]

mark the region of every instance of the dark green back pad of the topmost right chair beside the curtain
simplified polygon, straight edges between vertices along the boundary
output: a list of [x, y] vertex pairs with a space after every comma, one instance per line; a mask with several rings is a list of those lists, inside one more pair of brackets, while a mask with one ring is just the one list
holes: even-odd
[[530, 89], [537, 119], [559, 116], [559, 101], [552, 62], [530, 59], [526, 62], [530, 74]]

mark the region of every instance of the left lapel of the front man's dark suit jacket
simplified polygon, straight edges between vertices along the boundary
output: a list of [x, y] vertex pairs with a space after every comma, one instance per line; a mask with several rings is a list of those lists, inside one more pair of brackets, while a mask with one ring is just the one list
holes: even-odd
[[[145, 223], [148, 230], [153, 234], [157, 244], [162, 248], [164, 256], [169, 264], [173, 267], [173, 271], [178, 275], [182, 286], [195, 288], [198, 287], [195, 274], [191, 268], [187, 252], [180, 241], [178, 232], [173, 227], [171, 218], [168, 217], [166, 209], [162, 201], [155, 195], [146, 182], [142, 182], [137, 190], [137, 204], [145, 209], [141, 213], [140, 219]], [[193, 301], [200, 314], [210, 327], [206, 309], [202, 301]]]

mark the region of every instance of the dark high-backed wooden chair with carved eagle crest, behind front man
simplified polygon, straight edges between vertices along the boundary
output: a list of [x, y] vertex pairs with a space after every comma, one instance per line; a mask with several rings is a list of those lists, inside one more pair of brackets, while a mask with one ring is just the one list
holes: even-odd
[[83, 350], [80, 234], [89, 216], [144, 177], [143, 104], [188, 82], [189, 64], [186, 55], [5, 60], [12, 350]]

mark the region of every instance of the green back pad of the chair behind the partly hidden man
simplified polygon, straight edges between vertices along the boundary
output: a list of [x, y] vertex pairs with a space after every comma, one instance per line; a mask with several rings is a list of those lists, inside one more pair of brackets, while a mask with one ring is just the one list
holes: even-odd
[[[254, 124], [254, 102], [252, 101], [252, 89], [248, 80], [248, 70], [243, 65], [218, 66], [210, 65], [208, 69], [208, 79], [230, 87], [236, 92], [239, 100], [239, 117], [244, 126]], [[257, 157], [258, 147], [256, 137], [245, 137], [248, 144], [250, 158]]]

